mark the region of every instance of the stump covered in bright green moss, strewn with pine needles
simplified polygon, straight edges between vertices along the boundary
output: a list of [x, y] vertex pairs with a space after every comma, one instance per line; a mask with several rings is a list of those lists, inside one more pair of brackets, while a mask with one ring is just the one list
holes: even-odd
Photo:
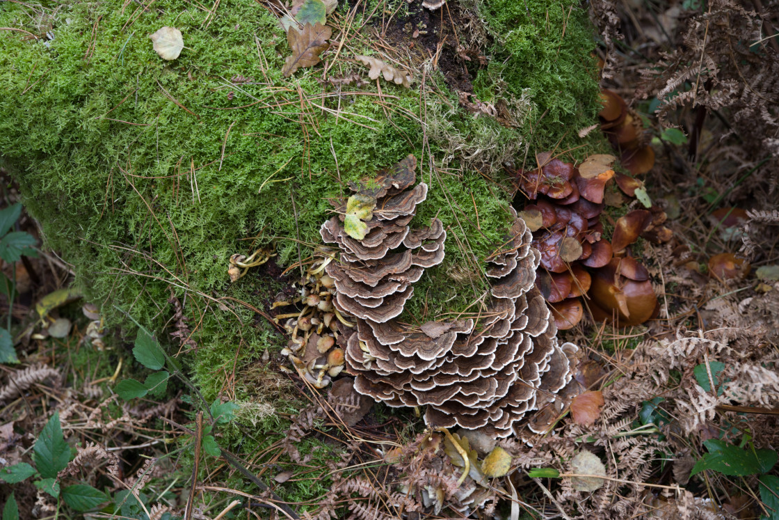
[[[265, 307], [280, 271], [231, 285], [231, 254], [273, 242], [278, 264], [305, 262], [329, 197], [414, 154], [430, 186], [416, 219], [437, 215], [451, 238], [410, 319], [463, 310], [484, 283], [474, 266], [509, 221], [500, 162], [600, 146], [576, 136], [598, 110], [592, 30], [576, 2], [342, 2], [323, 61], [288, 78], [290, 49], [266, 5], [206, 7], [0, 6], [0, 153], [28, 209], [109, 320], [119, 308], [160, 331], [171, 291], [182, 301], [206, 398], [226, 384], [249, 397], [251, 385], [233, 383], [280, 342], [240, 303]], [[184, 38], [170, 62], [148, 37], [164, 26]], [[369, 80], [355, 55], [407, 69], [411, 88]]]

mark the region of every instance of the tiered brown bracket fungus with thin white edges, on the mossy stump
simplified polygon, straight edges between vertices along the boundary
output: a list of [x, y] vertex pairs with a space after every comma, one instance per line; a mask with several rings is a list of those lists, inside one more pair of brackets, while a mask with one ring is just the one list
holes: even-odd
[[333, 304], [356, 321], [352, 330], [339, 327], [354, 388], [390, 406], [427, 405], [430, 426], [507, 437], [527, 424], [540, 433], [548, 421], [523, 419], [541, 408], [562, 410], [566, 401], [556, 394], [572, 379], [577, 348], [558, 345], [552, 313], [534, 288], [541, 253], [530, 247], [533, 235], [516, 214], [506, 245], [488, 258], [492, 295], [485, 312], [421, 327], [396, 319], [414, 282], [444, 257], [439, 219], [425, 228], [408, 226], [427, 193], [425, 183], [411, 188], [415, 168], [409, 156], [375, 182], [351, 184], [363, 194], [373, 186], [376, 197], [364, 239], [351, 239], [338, 217], [321, 228], [325, 242], [340, 248], [326, 267], [337, 289]]

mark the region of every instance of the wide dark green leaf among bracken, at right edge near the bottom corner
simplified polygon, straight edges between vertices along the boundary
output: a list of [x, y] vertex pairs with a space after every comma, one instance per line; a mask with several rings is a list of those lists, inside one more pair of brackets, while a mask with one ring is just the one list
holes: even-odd
[[709, 453], [703, 455], [693, 466], [690, 476], [711, 469], [728, 476], [747, 476], [767, 473], [777, 462], [777, 452], [769, 449], [742, 450], [722, 440], [709, 439], [703, 444]]

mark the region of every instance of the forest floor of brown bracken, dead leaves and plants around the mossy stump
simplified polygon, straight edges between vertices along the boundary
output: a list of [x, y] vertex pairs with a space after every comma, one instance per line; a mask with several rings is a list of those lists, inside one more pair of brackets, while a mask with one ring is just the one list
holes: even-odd
[[[0, 366], [2, 520], [779, 518], [779, 2], [591, 4], [601, 87], [641, 122], [654, 150], [644, 193], [671, 231], [632, 246], [656, 316], [622, 328], [586, 316], [560, 333], [582, 348], [576, 380], [591, 401], [532, 446], [499, 441], [505, 472], [494, 443], [465, 444], [462, 480], [460, 447], [418, 410], [316, 390], [279, 352], [252, 369], [254, 408], [239, 410], [228, 385], [193, 413], [202, 396], [143, 327], [133, 354], [152, 372], [119, 380], [122, 356], [103, 350], [119, 331], [69, 291], [57, 252], [39, 250], [5, 264], [16, 295], [0, 286], [24, 352]], [[456, 56], [439, 66], [467, 83]], [[620, 198], [607, 228], [642, 207]], [[17, 200], [11, 188], [5, 203]], [[39, 236], [25, 214], [14, 231]], [[256, 269], [294, 294], [289, 269]], [[270, 401], [288, 406], [269, 419]], [[242, 451], [249, 439], [259, 448]]]

